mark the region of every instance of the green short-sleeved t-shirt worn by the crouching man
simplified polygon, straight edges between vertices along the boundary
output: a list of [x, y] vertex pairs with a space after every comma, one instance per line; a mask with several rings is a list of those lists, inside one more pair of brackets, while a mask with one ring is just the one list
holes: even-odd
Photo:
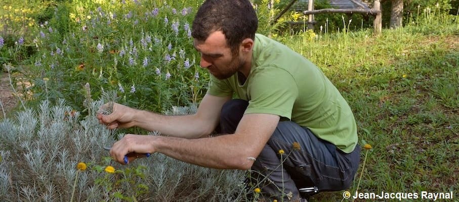
[[211, 75], [207, 93], [248, 100], [244, 114], [279, 115], [308, 127], [318, 138], [345, 153], [357, 144], [354, 115], [338, 89], [320, 69], [287, 46], [256, 34], [251, 71], [243, 84], [238, 75]]

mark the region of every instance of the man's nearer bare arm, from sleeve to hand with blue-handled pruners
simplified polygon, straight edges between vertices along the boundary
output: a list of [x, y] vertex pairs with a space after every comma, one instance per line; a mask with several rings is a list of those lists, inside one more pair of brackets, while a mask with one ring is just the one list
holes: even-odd
[[200, 139], [127, 135], [113, 146], [112, 156], [122, 163], [128, 153], [166, 156], [218, 169], [250, 169], [279, 122], [270, 114], [244, 115], [234, 134]]

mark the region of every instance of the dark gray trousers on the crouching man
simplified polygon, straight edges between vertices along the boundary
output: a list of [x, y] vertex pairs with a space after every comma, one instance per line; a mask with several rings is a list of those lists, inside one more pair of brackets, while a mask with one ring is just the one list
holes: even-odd
[[[234, 133], [247, 105], [242, 99], [227, 102], [222, 108], [217, 132]], [[294, 142], [301, 148], [294, 148]], [[283, 155], [279, 154], [280, 149]], [[300, 188], [317, 187], [319, 191], [349, 188], [359, 162], [360, 146], [346, 154], [332, 143], [317, 138], [307, 127], [281, 121], [249, 171], [247, 186], [261, 188], [262, 195], [271, 201], [281, 197], [285, 201], [297, 200], [309, 196], [300, 193]]]

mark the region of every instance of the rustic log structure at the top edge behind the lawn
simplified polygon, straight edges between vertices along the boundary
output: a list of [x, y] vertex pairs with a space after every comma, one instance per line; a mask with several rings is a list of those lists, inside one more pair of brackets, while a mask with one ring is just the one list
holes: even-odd
[[[373, 32], [374, 34], [380, 34], [382, 31], [382, 18], [381, 18], [381, 3], [380, 0], [374, 0], [373, 8], [369, 8], [365, 3], [360, 0], [329, 0], [328, 2], [331, 5], [331, 9], [320, 9], [314, 10], [314, 0], [292, 0], [280, 13], [274, 18], [274, 21], [277, 21], [285, 12], [290, 10], [290, 8], [297, 2], [308, 4], [308, 10], [304, 11], [304, 15], [308, 16], [308, 29], [314, 28], [314, 15], [321, 13], [346, 13], [353, 14], [359, 13], [363, 15], [372, 15], [374, 16], [373, 21]], [[299, 10], [299, 8], [295, 8]], [[303, 24], [303, 22], [299, 22]]]

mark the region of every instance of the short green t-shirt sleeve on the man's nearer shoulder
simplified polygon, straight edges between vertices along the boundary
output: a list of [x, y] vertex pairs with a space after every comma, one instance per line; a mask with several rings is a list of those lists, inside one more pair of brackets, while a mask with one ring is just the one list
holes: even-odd
[[281, 68], [266, 67], [252, 72], [247, 94], [250, 97], [245, 114], [275, 114], [291, 119], [291, 112], [298, 97], [294, 77]]

